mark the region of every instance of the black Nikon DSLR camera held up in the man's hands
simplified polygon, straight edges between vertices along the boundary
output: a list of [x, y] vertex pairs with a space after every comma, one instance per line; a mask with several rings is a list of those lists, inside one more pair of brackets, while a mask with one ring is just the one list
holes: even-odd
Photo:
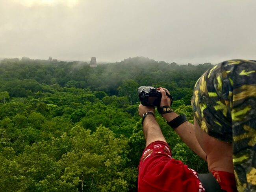
[[[173, 102], [173, 98], [170, 94], [166, 92], [166, 95], [171, 98], [171, 104]], [[144, 106], [157, 106], [160, 107], [161, 102], [161, 92], [160, 90], [156, 90], [154, 87], [141, 86], [138, 89], [139, 100], [141, 104]]]

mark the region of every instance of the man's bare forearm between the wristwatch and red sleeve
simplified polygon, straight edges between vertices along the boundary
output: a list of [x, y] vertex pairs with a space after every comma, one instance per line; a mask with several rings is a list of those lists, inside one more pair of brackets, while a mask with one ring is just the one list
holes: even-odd
[[147, 115], [143, 122], [143, 133], [146, 140], [146, 147], [157, 140], [166, 142], [163, 133], [153, 115]]

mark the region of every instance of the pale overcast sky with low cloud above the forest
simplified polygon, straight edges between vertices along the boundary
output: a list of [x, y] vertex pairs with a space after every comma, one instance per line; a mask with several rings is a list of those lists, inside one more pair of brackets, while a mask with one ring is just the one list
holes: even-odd
[[256, 59], [256, 0], [0, 0], [0, 58]]

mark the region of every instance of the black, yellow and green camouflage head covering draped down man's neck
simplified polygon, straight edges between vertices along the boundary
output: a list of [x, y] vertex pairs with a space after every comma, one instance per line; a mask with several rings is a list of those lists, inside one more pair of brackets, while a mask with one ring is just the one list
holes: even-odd
[[239, 191], [256, 191], [256, 61], [224, 61], [197, 81], [194, 116], [208, 135], [233, 142]]

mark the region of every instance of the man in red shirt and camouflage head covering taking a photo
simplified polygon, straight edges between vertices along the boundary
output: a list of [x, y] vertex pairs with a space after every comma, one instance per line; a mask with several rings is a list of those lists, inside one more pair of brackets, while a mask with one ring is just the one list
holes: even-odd
[[[167, 90], [158, 90], [160, 106], [170, 106]], [[173, 111], [162, 116], [207, 161], [222, 190], [256, 191], [256, 62], [215, 65], [198, 79], [191, 104], [194, 125]], [[139, 163], [138, 190], [204, 191], [197, 173], [172, 159], [154, 113], [154, 107], [139, 105], [146, 149]]]

